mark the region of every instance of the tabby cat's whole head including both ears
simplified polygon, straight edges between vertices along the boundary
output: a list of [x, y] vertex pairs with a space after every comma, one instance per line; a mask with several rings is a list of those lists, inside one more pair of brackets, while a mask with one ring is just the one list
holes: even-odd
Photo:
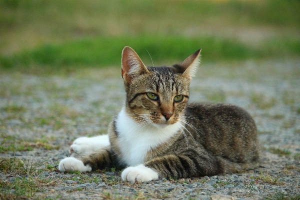
[[138, 122], [159, 127], [176, 123], [189, 95], [189, 83], [199, 64], [200, 50], [172, 66], [145, 66], [129, 46], [122, 51], [126, 113]]

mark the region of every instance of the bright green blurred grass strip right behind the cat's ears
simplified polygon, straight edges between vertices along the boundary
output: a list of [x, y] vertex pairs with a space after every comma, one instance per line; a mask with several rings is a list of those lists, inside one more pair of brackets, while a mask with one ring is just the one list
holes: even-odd
[[[206, 62], [274, 56], [278, 58], [282, 51], [289, 56], [300, 53], [300, 39], [295, 41], [297, 49], [289, 45], [278, 45], [277, 48], [275, 43], [268, 49], [259, 49], [233, 39], [212, 36], [197, 38], [163, 35], [95, 37], [61, 44], [46, 44], [11, 56], [0, 56], [0, 67], [119, 66], [121, 51], [125, 45], [135, 49], [146, 65], [152, 65], [150, 56], [154, 65], [165, 61], [168, 61], [168, 64], [174, 64], [173, 62], [182, 61], [199, 48], [202, 48], [202, 61]], [[280, 49], [279, 46], [281, 46]]]

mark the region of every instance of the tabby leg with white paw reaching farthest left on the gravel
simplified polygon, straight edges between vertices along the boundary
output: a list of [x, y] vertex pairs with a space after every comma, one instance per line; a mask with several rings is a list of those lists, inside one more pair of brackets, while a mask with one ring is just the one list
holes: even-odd
[[78, 158], [66, 157], [59, 162], [58, 169], [60, 171], [76, 170], [80, 172], [102, 169], [112, 164], [111, 156], [109, 145]]

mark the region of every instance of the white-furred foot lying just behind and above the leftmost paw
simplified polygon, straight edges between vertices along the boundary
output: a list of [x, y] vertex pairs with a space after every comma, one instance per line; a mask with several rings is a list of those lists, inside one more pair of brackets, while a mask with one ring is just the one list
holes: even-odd
[[109, 144], [107, 134], [95, 137], [79, 137], [75, 139], [70, 146], [70, 153], [71, 156], [84, 155], [108, 146]]

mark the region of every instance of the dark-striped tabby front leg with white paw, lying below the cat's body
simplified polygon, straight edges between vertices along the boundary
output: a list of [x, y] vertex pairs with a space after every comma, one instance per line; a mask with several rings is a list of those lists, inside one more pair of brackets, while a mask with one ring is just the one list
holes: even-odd
[[130, 182], [146, 182], [157, 180], [158, 177], [210, 176], [222, 173], [225, 165], [226, 162], [221, 157], [212, 156], [204, 150], [196, 152], [188, 149], [178, 155], [164, 155], [134, 167], [127, 167], [122, 172], [122, 179]]

